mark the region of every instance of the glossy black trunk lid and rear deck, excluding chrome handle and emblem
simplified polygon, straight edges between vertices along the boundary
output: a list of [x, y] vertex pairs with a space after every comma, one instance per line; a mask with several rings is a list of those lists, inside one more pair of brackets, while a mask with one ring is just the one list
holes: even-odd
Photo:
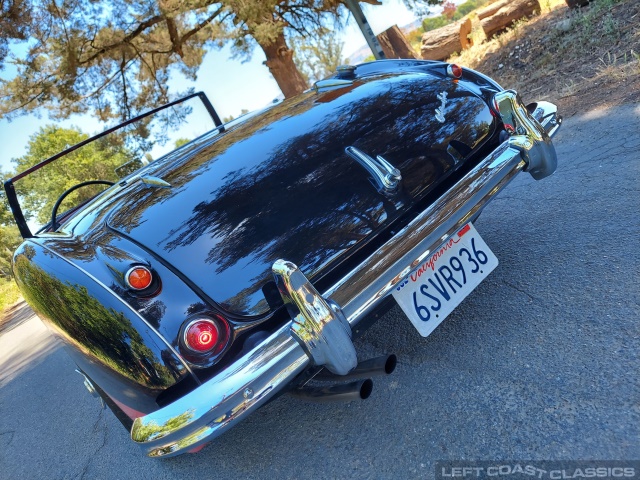
[[[443, 92], [445, 123], [435, 118]], [[158, 175], [170, 188], [136, 186], [108, 225], [224, 311], [264, 315], [275, 260], [322, 275], [472, 158], [494, 123], [461, 83], [428, 73], [312, 91], [202, 142]], [[347, 146], [397, 167], [401, 191], [380, 194]]]

